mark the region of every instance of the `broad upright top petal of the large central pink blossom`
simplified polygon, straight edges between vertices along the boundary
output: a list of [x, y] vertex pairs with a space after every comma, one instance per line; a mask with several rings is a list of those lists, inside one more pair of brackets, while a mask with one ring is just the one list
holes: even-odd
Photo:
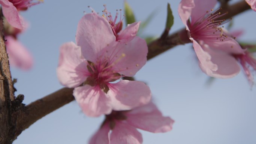
[[76, 42], [82, 55], [91, 62], [96, 63], [98, 53], [115, 40], [109, 22], [97, 13], [84, 15], [78, 23]]

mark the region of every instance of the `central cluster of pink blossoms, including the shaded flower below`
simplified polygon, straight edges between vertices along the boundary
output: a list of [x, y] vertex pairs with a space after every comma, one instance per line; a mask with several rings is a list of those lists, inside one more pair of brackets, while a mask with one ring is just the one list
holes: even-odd
[[90, 144], [141, 144], [136, 128], [167, 132], [174, 122], [150, 102], [146, 84], [121, 79], [134, 76], [146, 64], [148, 50], [145, 40], [136, 36], [140, 22], [122, 30], [122, 20], [117, 18], [118, 13], [113, 18], [106, 7], [102, 16], [84, 15], [77, 26], [76, 44], [60, 47], [61, 84], [74, 88], [73, 95], [87, 116], [106, 114]]

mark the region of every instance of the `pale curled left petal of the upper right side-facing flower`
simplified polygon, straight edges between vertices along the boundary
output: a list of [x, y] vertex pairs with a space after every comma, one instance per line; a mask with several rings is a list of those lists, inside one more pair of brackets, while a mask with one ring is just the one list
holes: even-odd
[[214, 64], [211, 61], [211, 55], [207, 52], [205, 52], [201, 45], [199, 45], [198, 42], [196, 42], [195, 40], [193, 40], [193, 38], [189, 38], [193, 41], [193, 48], [195, 50], [196, 56], [199, 59], [199, 62], [201, 64], [201, 68], [203, 69], [203, 71], [216, 71], [217, 70], [217, 65]]

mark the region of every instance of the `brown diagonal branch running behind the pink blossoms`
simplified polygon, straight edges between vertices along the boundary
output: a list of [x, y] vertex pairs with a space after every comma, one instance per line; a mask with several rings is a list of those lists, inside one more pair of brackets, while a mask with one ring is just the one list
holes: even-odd
[[[222, 9], [223, 12], [229, 10], [229, 13], [222, 18], [231, 18], [232, 16], [237, 15], [238, 13], [241, 13], [247, 9], [250, 9], [250, 7], [243, 0], [232, 6], [228, 6], [227, 9]], [[165, 52], [166, 50], [173, 48], [174, 46], [184, 45], [185, 43], [189, 42], [190, 40], [188, 39], [185, 29], [167, 36], [164, 40], [157, 39], [148, 45], [149, 52], [147, 59], [149, 60]], [[63, 105], [73, 101], [74, 97], [72, 93], [73, 89], [63, 88], [21, 108], [21, 110], [15, 113], [18, 120], [16, 122], [16, 136], [18, 136], [24, 129], [28, 128], [34, 122], [41, 119], [43, 116], [46, 116], [52, 111], [57, 110]]]

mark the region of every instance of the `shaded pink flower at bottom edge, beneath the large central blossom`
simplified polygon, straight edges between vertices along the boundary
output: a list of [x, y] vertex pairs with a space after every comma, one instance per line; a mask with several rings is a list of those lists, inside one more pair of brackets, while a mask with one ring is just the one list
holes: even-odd
[[162, 116], [150, 102], [131, 111], [112, 111], [89, 144], [142, 144], [142, 135], [136, 128], [149, 132], [171, 131], [174, 120]]

